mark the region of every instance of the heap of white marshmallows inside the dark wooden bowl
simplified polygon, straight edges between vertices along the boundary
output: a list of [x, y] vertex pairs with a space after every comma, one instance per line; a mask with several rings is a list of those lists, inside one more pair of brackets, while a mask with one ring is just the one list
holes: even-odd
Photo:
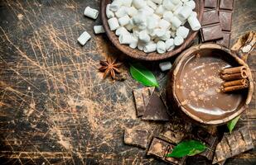
[[109, 28], [120, 44], [164, 54], [182, 45], [190, 29], [200, 29], [193, 0], [114, 0], [106, 7]]

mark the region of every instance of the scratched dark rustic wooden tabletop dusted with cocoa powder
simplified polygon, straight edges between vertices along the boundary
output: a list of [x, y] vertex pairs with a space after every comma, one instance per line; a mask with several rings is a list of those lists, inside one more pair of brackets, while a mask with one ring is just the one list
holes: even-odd
[[[133, 78], [102, 79], [99, 59], [123, 55], [94, 35], [100, 21], [83, 16], [87, 6], [99, 9], [99, 0], [0, 2], [1, 164], [165, 164], [123, 144], [123, 129], [161, 124], [136, 118], [132, 90], [141, 86]], [[85, 30], [92, 39], [81, 47]], [[232, 43], [249, 30], [256, 30], [256, 2], [235, 0]], [[164, 80], [157, 64], [151, 69]], [[255, 97], [239, 125], [249, 125], [256, 145]], [[226, 164], [256, 164], [256, 148]]]

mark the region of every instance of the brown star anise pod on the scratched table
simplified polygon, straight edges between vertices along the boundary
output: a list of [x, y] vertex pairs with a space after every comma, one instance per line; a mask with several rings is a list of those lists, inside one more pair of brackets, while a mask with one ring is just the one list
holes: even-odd
[[107, 78], [110, 73], [111, 78], [114, 79], [116, 73], [121, 73], [118, 69], [121, 66], [121, 63], [117, 63], [116, 61], [117, 59], [111, 59], [110, 57], [108, 57], [106, 61], [100, 60], [99, 64], [101, 64], [101, 67], [99, 68], [99, 71], [104, 72], [103, 78]]

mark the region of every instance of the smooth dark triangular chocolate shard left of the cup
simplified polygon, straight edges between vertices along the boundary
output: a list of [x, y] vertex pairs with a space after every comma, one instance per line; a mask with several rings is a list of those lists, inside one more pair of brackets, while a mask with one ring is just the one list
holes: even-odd
[[163, 103], [162, 99], [154, 92], [150, 97], [149, 103], [146, 106], [142, 120], [170, 120], [167, 112], [167, 106]]

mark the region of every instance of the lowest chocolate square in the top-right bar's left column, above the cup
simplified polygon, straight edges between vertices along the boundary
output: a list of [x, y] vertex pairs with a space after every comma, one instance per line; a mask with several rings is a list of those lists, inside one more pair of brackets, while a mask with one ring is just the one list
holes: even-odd
[[220, 24], [204, 26], [200, 29], [201, 40], [203, 42], [219, 40], [223, 38]]

